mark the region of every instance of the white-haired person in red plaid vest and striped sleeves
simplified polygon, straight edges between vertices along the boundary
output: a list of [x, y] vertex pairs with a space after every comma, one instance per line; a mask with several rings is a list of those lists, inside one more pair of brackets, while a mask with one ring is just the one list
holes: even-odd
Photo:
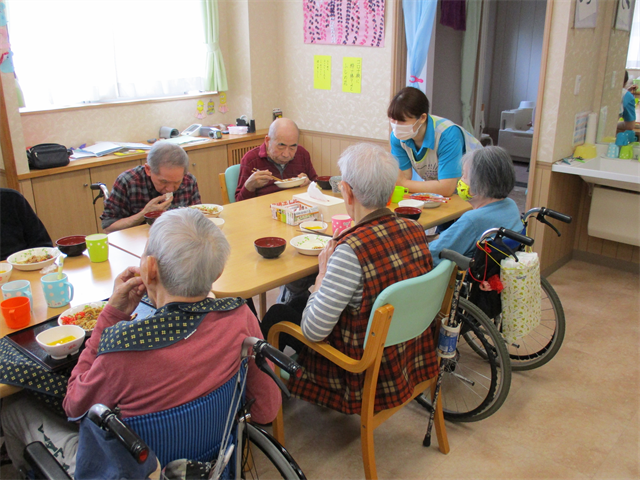
[[[398, 164], [383, 148], [349, 147], [338, 161], [340, 189], [354, 226], [320, 253], [320, 271], [297, 323], [309, 340], [328, 341], [354, 358], [363, 352], [365, 332], [376, 297], [389, 285], [423, 275], [432, 260], [424, 229], [386, 208], [398, 178]], [[276, 320], [296, 321], [287, 305], [275, 305], [262, 331]], [[278, 318], [279, 317], [279, 318]], [[405, 402], [418, 383], [437, 374], [433, 327], [420, 337], [384, 351], [376, 410]], [[306, 347], [299, 349], [301, 378], [289, 382], [304, 400], [343, 413], [360, 413], [364, 373], [348, 373]]]

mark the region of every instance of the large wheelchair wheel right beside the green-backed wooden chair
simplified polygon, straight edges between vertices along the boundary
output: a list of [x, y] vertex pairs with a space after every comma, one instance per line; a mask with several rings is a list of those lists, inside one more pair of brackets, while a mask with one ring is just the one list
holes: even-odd
[[[442, 359], [442, 407], [452, 422], [476, 422], [493, 415], [511, 388], [511, 363], [502, 335], [494, 323], [467, 299], [460, 297], [462, 322], [456, 355]], [[418, 397], [430, 408], [431, 399]]]

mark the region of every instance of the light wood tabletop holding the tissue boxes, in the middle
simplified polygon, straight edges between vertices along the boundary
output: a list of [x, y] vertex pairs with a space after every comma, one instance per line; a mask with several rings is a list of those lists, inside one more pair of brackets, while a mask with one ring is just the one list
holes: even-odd
[[[272, 203], [291, 200], [306, 188], [292, 188], [242, 202], [224, 205], [220, 218], [224, 219], [223, 232], [231, 244], [231, 256], [222, 276], [213, 284], [218, 297], [250, 298], [288, 282], [318, 271], [318, 258], [299, 254], [289, 243], [280, 257], [262, 258], [253, 242], [261, 237], [282, 237], [287, 242], [304, 233], [296, 226], [286, 225], [271, 218]], [[393, 210], [397, 205], [391, 204]], [[454, 195], [438, 208], [424, 209], [419, 223], [431, 228], [454, 220], [467, 210], [469, 204]], [[331, 219], [327, 233], [331, 233]], [[149, 236], [149, 226], [140, 225], [109, 234], [109, 243], [135, 256], [142, 256]]]

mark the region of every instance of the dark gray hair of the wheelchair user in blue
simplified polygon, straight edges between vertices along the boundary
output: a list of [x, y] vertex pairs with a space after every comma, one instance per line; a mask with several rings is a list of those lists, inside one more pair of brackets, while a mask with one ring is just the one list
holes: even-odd
[[462, 157], [468, 165], [471, 193], [484, 198], [507, 198], [516, 183], [513, 161], [504, 148], [484, 147]]

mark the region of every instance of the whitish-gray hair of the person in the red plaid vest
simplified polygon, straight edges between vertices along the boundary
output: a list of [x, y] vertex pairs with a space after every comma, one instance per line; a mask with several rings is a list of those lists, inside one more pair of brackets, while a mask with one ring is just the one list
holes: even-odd
[[356, 200], [369, 209], [387, 205], [398, 179], [398, 162], [379, 145], [358, 143], [348, 147], [338, 160], [342, 180]]

